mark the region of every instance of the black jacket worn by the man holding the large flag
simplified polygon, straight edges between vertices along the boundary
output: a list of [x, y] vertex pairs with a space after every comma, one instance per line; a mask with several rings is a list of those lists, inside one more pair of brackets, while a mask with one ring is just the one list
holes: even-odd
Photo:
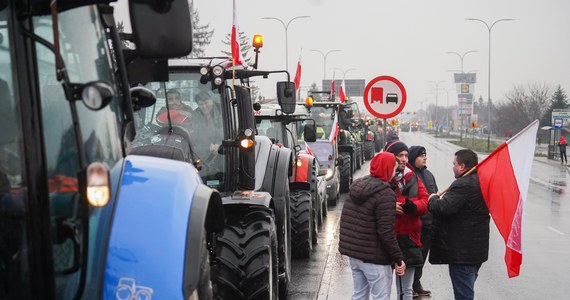
[[480, 264], [489, 256], [489, 210], [473, 172], [456, 179], [441, 198], [430, 197], [432, 264]]

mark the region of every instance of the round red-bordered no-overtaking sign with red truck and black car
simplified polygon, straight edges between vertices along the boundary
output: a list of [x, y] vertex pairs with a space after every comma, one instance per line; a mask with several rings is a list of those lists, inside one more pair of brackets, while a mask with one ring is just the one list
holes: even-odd
[[398, 79], [378, 76], [364, 89], [364, 106], [375, 117], [388, 119], [399, 114], [406, 105], [406, 89]]

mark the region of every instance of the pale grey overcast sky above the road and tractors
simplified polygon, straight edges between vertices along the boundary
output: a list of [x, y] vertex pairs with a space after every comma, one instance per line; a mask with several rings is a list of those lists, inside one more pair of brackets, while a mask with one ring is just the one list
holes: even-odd
[[[319, 86], [323, 79], [323, 56], [332, 49], [340, 52], [327, 57], [327, 79], [335, 68], [348, 70], [347, 79], [365, 79], [379, 75], [399, 79], [408, 93], [408, 111], [423, 103], [435, 103], [435, 83], [440, 82], [439, 105], [457, 103], [453, 72], [461, 60], [446, 52], [469, 53], [464, 71], [476, 71], [475, 97], [487, 100], [488, 39], [478, 18], [491, 31], [491, 98], [501, 101], [515, 85], [544, 82], [561, 85], [570, 92], [570, 1], [568, 0], [237, 0], [240, 31], [252, 37], [264, 36], [259, 57], [260, 69], [285, 68], [285, 30], [276, 17], [287, 23], [289, 72], [294, 76], [302, 50], [301, 85]], [[229, 49], [222, 43], [232, 27], [231, 0], [195, 0], [202, 24], [215, 30], [209, 56]], [[124, 12], [117, 12], [121, 19]], [[335, 72], [342, 78], [342, 72]], [[441, 88], [449, 90], [446, 93]], [[268, 87], [263, 87], [264, 90]], [[272, 88], [273, 89], [273, 88]], [[271, 92], [266, 92], [267, 97]]]

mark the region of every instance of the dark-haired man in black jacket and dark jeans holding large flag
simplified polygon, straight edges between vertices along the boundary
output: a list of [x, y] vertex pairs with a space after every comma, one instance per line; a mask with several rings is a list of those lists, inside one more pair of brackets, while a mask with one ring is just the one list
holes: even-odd
[[447, 192], [432, 194], [433, 214], [429, 262], [448, 264], [455, 299], [473, 299], [475, 280], [489, 256], [489, 210], [483, 199], [477, 172], [477, 154], [469, 149], [455, 153], [455, 181]]

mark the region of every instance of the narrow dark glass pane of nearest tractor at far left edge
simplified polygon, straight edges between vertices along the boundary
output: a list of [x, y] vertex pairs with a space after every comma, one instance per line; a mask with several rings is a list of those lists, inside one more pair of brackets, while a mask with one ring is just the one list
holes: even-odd
[[27, 186], [8, 18], [9, 9], [0, 10], [0, 299], [27, 299], [31, 290], [25, 238]]

